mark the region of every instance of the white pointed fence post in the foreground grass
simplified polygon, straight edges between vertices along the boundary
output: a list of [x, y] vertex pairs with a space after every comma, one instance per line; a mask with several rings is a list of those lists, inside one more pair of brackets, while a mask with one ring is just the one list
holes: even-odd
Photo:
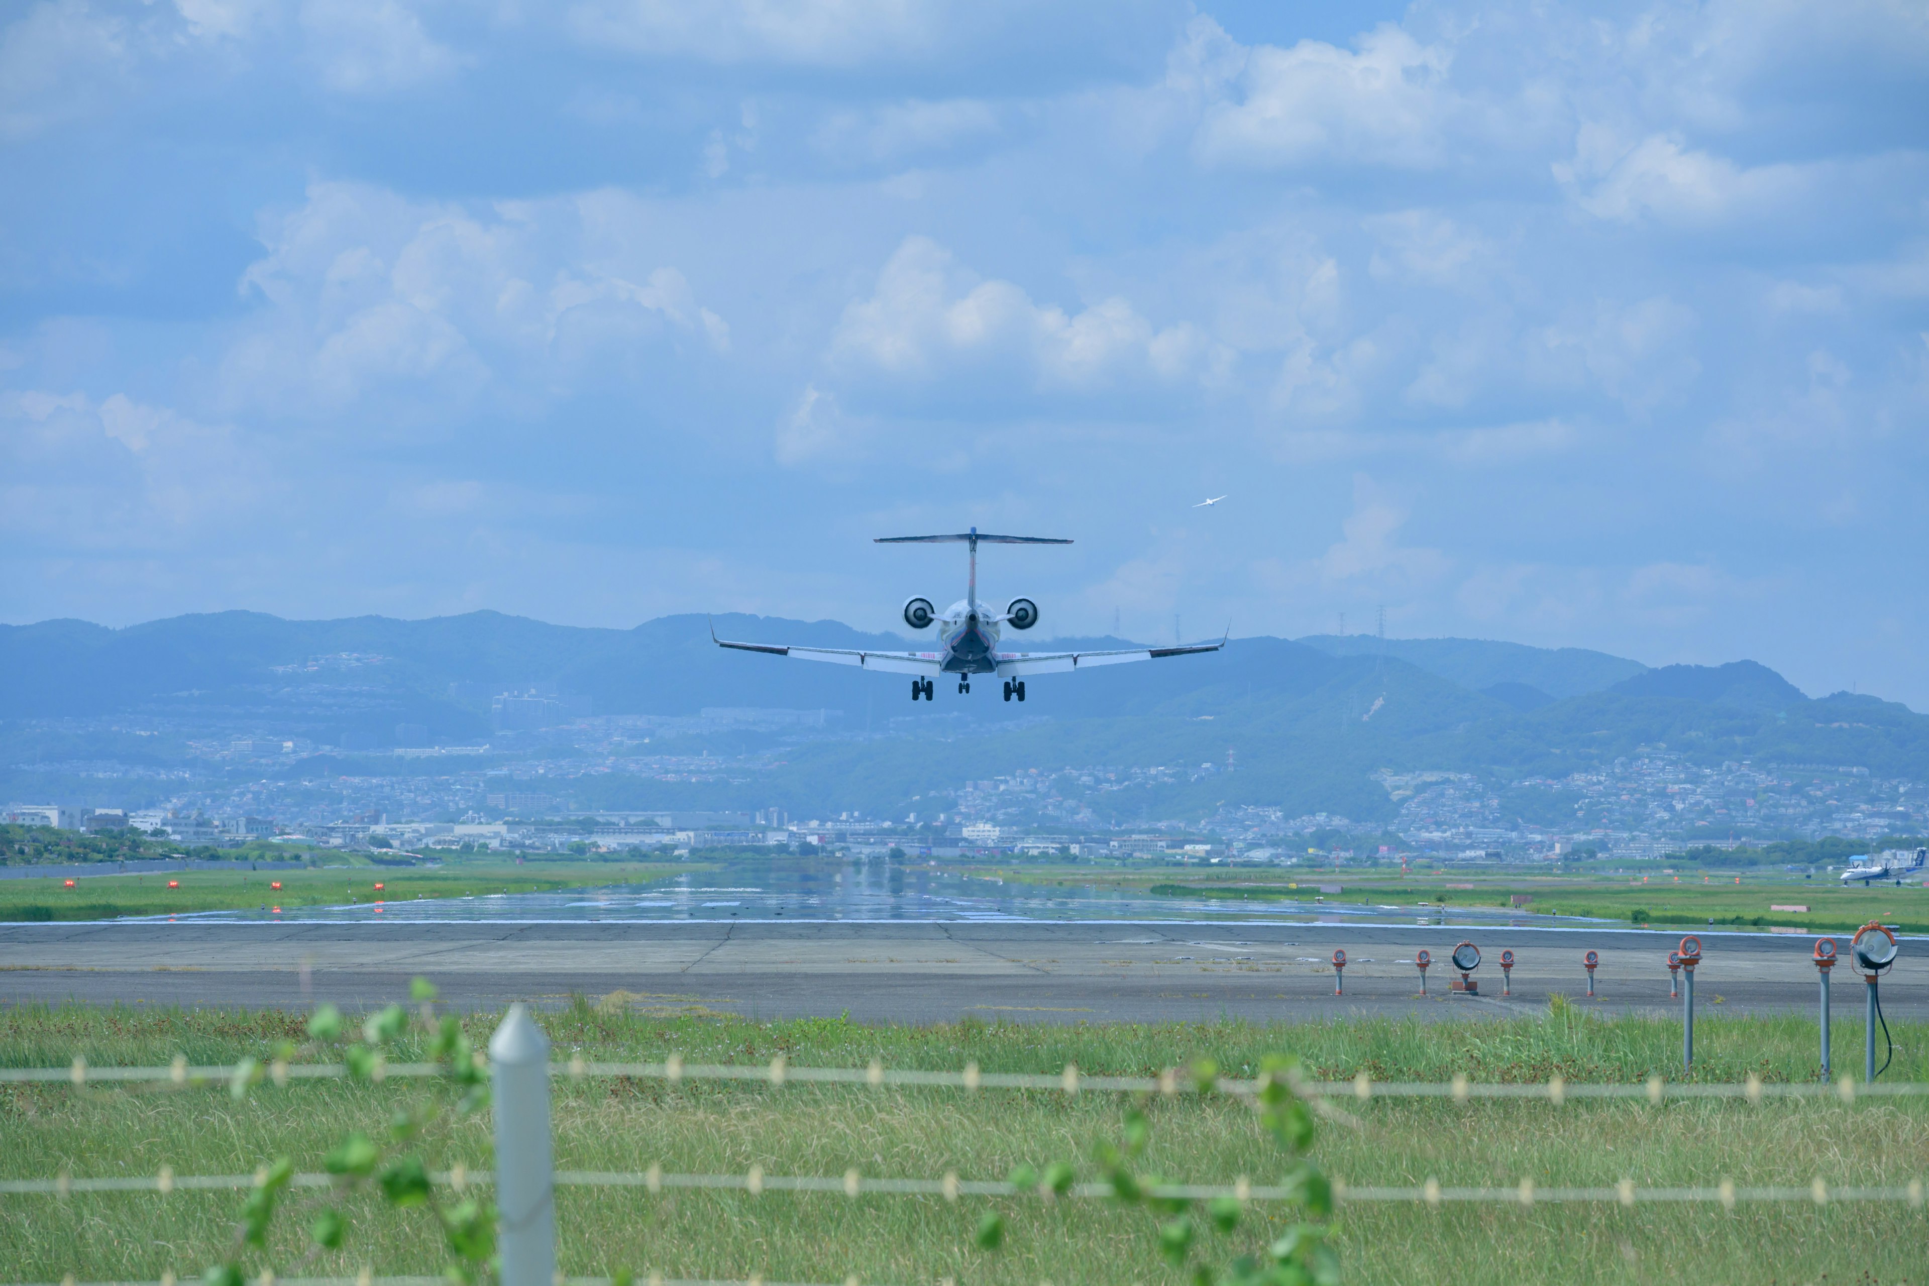
[[511, 1005], [488, 1041], [496, 1085], [496, 1247], [503, 1286], [556, 1278], [556, 1168], [550, 1157], [550, 1037]]

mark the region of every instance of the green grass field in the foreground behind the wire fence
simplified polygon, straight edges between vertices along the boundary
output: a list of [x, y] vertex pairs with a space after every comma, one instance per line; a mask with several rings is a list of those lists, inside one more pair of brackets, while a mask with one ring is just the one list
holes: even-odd
[[[471, 1020], [476, 1037], [492, 1020]], [[557, 1057], [1051, 1072], [1076, 1062], [1092, 1074], [1154, 1072], [1211, 1055], [1227, 1072], [1252, 1072], [1265, 1053], [1292, 1051], [1319, 1076], [1366, 1068], [1375, 1078], [1642, 1080], [1669, 1072], [1678, 1028], [1653, 1020], [1603, 1020], [1557, 1005], [1547, 1018], [1493, 1024], [1144, 1024], [934, 1028], [860, 1026], [843, 1020], [758, 1024], [735, 1018], [654, 1016], [590, 1005], [542, 1016]], [[1860, 1028], [1838, 1024], [1842, 1051]], [[0, 1058], [66, 1064], [197, 1062], [260, 1055], [299, 1039], [301, 1016], [282, 1012], [39, 1008], [0, 1012]], [[1921, 1024], [1896, 1024], [1890, 1078], [1929, 1074]], [[1794, 1018], [1709, 1018], [1698, 1026], [1703, 1076], [1769, 1080], [1813, 1072], [1813, 1024]], [[407, 1057], [409, 1051], [397, 1051]], [[249, 1172], [274, 1155], [318, 1168], [347, 1128], [380, 1134], [397, 1103], [422, 1085], [341, 1082], [264, 1085], [235, 1103], [220, 1087], [75, 1091], [8, 1085], [0, 1091], [0, 1174]], [[556, 1159], [567, 1168], [1003, 1178], [1020, 1163], [1065, 1159], [1096, 1178], [1092, 1147], [1115, 1138], [1121, 1095], [980, 1093], [584, 1080], [556, 1082]], [[1373, 1101], [1346, 1105], [1358, 1126], [1323, 1126], [1316, 1155], [1352, 1184], [1445, 1182], [1514, 1186], [1644, 1186], [1867, 1182], [1871, 1157], [1890, 1159], [1887, 1178], [1929, 1172], [1929, 1105], [1834, 1099], [1759, 1107], [1744, 1101], [1472, 1103]], [[1175, 1180], [1263, 1182], [1283, 1153], [1248, 1111], [1227, 1099], [1155, 1101], [1146, 1168]], [[490, 1163], [484, 1120], [465, 1122], [430, 1151], [432, 1161]], [[239, 1193], [0, 1197], [0, 1280], [183, 1278], [224, 1253]], [[370, 1263], [386, 1273], [432, 1273], [438, 1255], [421, 1217], [351, 1203], [355, 1240], [340, 1257], [299, 1261], [303, 1219], [284, 1219], [284, 1273], [347, 1273]], [[1007, 1246], [972, 1247], [986, 1209], [1009, 1222]], [[1182, 1276], [1154, 1253], [1144, 1211], [1101, 1201], [860, 1197], [766, 1193], [664, 1193], [563, 1190], [561, 1267], [608, 1273], [658, 1269], [671, 1276], [748, 1276], [837, 1282], [1171, 1282]], [[1283, 1211], [1254, 1207], [1231, 1236], [1208, 1242], [1223, 1259], [1277, 1234]], [[1811, 1282], [1925, 1278], [1929, 1219], [1908, 1207], [1414, 1207], [1341, 1209], [1339, 1249], [1352, 1282]], [[258, 1261], [257, 1261], [258, 1267]]]

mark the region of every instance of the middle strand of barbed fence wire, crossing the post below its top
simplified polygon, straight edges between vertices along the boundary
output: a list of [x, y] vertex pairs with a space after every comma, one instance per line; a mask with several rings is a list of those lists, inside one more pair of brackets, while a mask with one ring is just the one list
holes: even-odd
[[[158, 1174], [116, 1178], [71, 1178], [66, 1174], [58, 1178], [12, 1178], [0, 1180], [0, 1193], [71, 1197], [75, 1193], [93, 1192], [158, 1192], [166, 1195], [172, 1192], [255, 1188], [260, 1182], [260, 1174], [174, 1174], [164, 1168]], [[330, 1188], [338, 1184], [340, 1178], [334, 1174], [295, 1174], [289, 1182], [295, 1188]], [[494, 1176], [488, 1170], [442, 1170], [430, 1174], [430, 1182], [463, 1190], [469, 1186], [488, 1186], [494, 1182]], [[752, 1197], [766, 1192], [822, 1192], [841, 1193], [845, 1197], [943, 1197], [945, 1201], [957, 1201], [959, 1197], [1059, 1197], [1059, 1193], [1051, 1193], [1049, 1190], [1036, 1186], [1019, 1188], [1017, 1184], [1005, 1180], [961, 1180], [957, 1174], [945, 1174], [943, 1178], [866, 1178], [858, 1170], [845, 1170], [841, 1176], [764, 1174], [762, 1166], [750, 1166], [743, 1174], [666, 1174], [662, 1166], [650, 1166], [648, 1170], [557, 1170], [554, 1182], [557, 1188], [642, 1188], [650, 1193], [666, 1190], [723, 1190], [745, 1192]], [[1244, 1178], [1231, 1184], [1146, 1184], [1144, 1192], [1152, 1197], [1179, 1201], [1209, 1201], [1213, 1197], [1233, 1197], [1236, 1201], [1296, 1201], [1304, 1195], [1300, 1188], [1254, 1184]], [[1512, 1188], [1447, 1188], [1441, 1186], [1439, 1180], [1431, 1178], [1418, 1186], [1352, 1186], [1343, 1180], [1333, 1180], [1333, 1197], [1341, 1203], [1391, 1201], [1435, 1207], [1480, 1201], [1499, 1201], [1507, 1205], [1613, 1201], [1626, 1207], [1644, 1201], [1715, 1201], [1723, 1207], [1734, 1209], [1742, 1201], [1806, 1201], [1813, 1205], [1831, 1205], [1838, 1201], [1892, 1201], [1908, 1203], [1919, 1209], [1923, 1205], [1923, 1180], [1919, 1178], [1910, 1180], [1908, 1184], [1836, 1186], [1817, 1176], [1806, 1186], [1782, 1184], [1752, 1188], [1738, 1186], [1732, 1180], [1721, 1180], [1715, 1186], [1703, 1188], [1642, 1188], [1632, 1178], [1624, 1178], [1611, 1188], [1541, 1188], [1532, 1178], [1524, 1178]], [[1063, 1195], [1073, 1199], [1103, 1199], [1115, 1197], [1117, 1193], [1109, 1182], [1101, 1182], [1073, 1184]]]

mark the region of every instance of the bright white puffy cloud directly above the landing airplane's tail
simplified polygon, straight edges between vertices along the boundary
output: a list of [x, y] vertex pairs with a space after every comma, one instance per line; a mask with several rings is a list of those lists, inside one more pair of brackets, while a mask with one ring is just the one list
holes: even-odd
[[1034, 303], [1011, 281], [978, 280], [928, 237], [907, 237], [870, 299], [831, 335], [847, 374], [905, 382], [1003, 370], [1036, 391], [1113, 391], [1134, 384], [1211, 384], [1231, 349], [1188, 322], [1157, 330], [1125, 299], [1080, 312]]

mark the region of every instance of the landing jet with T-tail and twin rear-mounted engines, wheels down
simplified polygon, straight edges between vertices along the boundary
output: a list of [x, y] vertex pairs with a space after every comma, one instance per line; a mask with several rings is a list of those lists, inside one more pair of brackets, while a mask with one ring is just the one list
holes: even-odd
[[905, 603], [905, 625], [914, 630], [937, 627], [936, 652], [864, 652], [849, 648], [783, 648], [774, 644], [747, 644], [710, 638], [720, 648], [739, 648], [743, 652], [770, 652], [772, 656], [795, 656], [802, 661], [831, 661], [833, 665], [860, 665], [891, 675], [914, 675], [910, 681], [910, 700], [936, 700], [932, 696], [930, 675], [957, 675], [959, 692], [970, 692], [972, 675], [997, 675], [1005, 681], [1005, 700], [1024, 700], [1024, 675], [1051, 675], [1069, 669], [1090, 669], [1094, 665], [1121, 665], [1125, 661], [1152, 661], [1167, 656], [1190, 656], [1194, 652], [1217, 652], [1225, 638], [1215, 644], [1181, 644], [1175, 648], [1119, 648], [1111, 652], [999, 652], [997, 634], [1001, 625], [1015, 630], [1028, 630], [1038, 625], [1038, 603], [1028, 598], [1015, 598], [1005, 611], [992, 611], [978, 602], [978, 546], [1069, 546], [1069, 540], [1047, 536], [992, 536], [976, 526], [955, 536], [880, 536], [880, 546], [903, 544], [964, 544], [970, 546], [970, 580], [964, 584], [964, 598], [951, 603], [943, 613], [932, 607], [928, 598], [912, 598]]

